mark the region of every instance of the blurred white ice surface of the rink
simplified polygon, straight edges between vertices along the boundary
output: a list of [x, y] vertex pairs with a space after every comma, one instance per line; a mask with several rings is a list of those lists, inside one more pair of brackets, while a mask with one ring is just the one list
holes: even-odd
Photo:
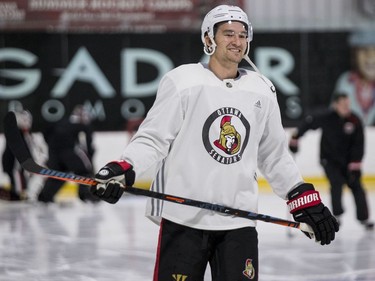
[[[374, 218], [375, 192], [368, 195]], [[328, 194], [322, 197], [329, 205]], [[145, 202], [133, 195], [115, 205], [0, 201], [0, 280], [151, 281], [158, 227], [144, 217]], [[374, 281], [374, 231], [356, 222], [349, 192], [344, 202], [341, 230], [329, 246], [259, 222], [260, 280]], [[287, 218], [284, 201], [271, 192], [261, 192], [259, 213]]]

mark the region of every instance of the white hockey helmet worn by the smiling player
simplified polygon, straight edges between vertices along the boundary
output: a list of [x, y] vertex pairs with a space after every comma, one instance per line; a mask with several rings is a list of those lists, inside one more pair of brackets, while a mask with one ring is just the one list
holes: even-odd
[[[212, 55], [216, 49], [216, 43], [214, 41], [214, 26], [219, 22], [226, 22], [226, 21], [239, 21], [245, 24], [247, 29], [247, 50], [246, 55], [250, 49], [250, 41], [253, 40], [253, 27], [249, 22], [246, 13], [237, 6], [228, 6], [228, 5], [220, 5], [213, 8], [211, 11], [207, 13], [204, 17], [202, 22], [201, 28], [201, 39], [203, 42], [203, 51], [207, 55]], [[208, 34], [208, 37], [211, 39], [212, 45], [207, 46], [204, 37]]]

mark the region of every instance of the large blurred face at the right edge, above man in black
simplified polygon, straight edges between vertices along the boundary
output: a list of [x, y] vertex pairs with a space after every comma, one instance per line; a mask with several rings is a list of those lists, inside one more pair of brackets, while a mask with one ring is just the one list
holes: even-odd
[[375, 47], [359, 48], [356, 53], [358, 70], [368, 81], [375, 81]]

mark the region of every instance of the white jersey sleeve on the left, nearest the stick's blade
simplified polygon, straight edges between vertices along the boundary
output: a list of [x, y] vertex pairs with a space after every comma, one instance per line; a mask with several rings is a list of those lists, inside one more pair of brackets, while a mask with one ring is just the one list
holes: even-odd
[[133, 165], [137, 176], [146, 172], [167, 156], [182, 121], [178, 89], [170, 77], [164, 76], [152, 108], [121, 158]]

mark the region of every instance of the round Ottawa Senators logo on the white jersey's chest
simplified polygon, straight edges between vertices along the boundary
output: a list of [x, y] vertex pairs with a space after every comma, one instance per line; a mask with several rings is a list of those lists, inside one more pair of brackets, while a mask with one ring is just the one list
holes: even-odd
[[249, 134], [250, 124], [241, 111], [224, 107], [207, 118], [202, 138], [209, 155], [214, 160], [228, 165], [241, 160]]

